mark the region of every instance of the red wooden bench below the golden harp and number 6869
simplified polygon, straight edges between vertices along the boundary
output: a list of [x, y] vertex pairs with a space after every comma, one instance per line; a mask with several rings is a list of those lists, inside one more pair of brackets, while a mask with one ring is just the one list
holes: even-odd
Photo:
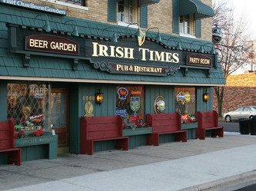
[[123, 137], [121, 116], [81, 117], [80, 153], [93, 155], [95, 141], [116, 140], [116, 149], [128, 150], [128, 137]]

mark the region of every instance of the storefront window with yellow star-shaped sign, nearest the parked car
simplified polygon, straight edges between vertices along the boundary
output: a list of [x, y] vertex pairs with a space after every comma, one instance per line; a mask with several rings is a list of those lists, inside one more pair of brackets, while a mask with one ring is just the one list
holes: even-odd
[[181, 123], [195, 121], [195, 87], [175, 87], [175, 112], [181, 114]]

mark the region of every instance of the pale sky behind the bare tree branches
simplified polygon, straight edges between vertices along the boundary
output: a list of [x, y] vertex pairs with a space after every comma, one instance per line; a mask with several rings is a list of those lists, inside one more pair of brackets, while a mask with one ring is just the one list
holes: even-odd
[[[251, 40], [256, 40], [256, 0], [212, 0], [213, 2], [228, 2], [231, 8], [234, 8], [234, 15], [239, 18], [247, 19], [248, 32], [251, 33]], [[256, 41], [254, 41], [256, 46]], [[233, 74], [244, 74], [244, 70], [251, 70], [251, 64], [244, 69], [239, 69]]]

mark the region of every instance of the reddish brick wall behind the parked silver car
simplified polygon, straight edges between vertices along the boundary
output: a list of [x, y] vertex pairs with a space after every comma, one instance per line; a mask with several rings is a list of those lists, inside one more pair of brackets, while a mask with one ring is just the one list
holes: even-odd
[[[256, 87], [225, 87], [222, 114], [240, 106], [256, 105]], [[213, 90], [213, 110], [218, 111], [218, 102]]]

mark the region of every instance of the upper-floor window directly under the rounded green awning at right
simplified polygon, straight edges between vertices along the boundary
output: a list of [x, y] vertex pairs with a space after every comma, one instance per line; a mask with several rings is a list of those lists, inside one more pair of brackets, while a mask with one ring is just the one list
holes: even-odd
[[183, 15], [180, 16], [180, 34], [181, 35], [194, 35], [194, 16], [193, 15]]

